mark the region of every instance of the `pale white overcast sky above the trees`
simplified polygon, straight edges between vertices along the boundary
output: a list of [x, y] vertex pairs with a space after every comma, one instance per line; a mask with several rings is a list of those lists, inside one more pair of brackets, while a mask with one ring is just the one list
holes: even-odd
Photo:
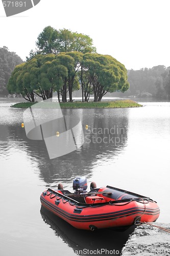
[[25, 60], [38, 34], [52, 26], [89, 35], [98, 53], [113, 56], [127, 69], [169, 67], [169, 11], [170, 0], [41, 0], [6, 17], [0, 2], [0, 47]]

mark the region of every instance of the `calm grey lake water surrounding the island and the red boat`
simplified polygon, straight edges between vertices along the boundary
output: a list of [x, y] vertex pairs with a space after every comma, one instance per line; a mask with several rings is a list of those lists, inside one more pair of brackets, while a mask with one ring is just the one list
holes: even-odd
[[9, 108], [11, 100], [0, 99], [1, 256], [85, 255], [88, 249], [118, 255], [133, 227], [126, 232], [77, 230], [41, 207], [46, 187], [62, 182], [72, 190], [77, 175], [86, 176], [88, 184], [95, 181], [156, 200], [158, 221], [169, 223], [170, 102], [142, 104], [62, 110], [80, 117], [85, 142], [50, 160], [44, 141], [29, 140], [21, 128], [24, 110]]

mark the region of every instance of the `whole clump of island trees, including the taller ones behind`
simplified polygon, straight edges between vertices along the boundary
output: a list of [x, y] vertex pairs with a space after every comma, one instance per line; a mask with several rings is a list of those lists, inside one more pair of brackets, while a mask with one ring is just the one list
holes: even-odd
[[53, 97], [72, 102], [72, 92], [82, 88], [82, 100], [100, 101], [107, 92], [125, 92], [129, 88], [125, 66], [109, 55], [96, 53], [88, 35], [45, 27], [38, 35], [36, 51], [27, 62], [17, 66], [8, 82], [10, 93], [21, 93], [34, 101]]

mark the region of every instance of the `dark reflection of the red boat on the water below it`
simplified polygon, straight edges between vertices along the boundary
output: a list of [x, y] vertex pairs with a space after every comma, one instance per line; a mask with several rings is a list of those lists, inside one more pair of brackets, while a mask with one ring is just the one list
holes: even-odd
[[43, 221], [50, 225], [55, 231], [56, 236], [60, 237], [75, 253], [85, 248], [93, 251], [101, 249], [115, 250], [117, 252], [119, 251], [119, 253], [115, 252], [113, 254], [120, 255], [124, 244], [128, 240], [129, 234], [134, 231], [134, 226], [121, 232], [113, 231], [112, 229], [99, 229], [93, 232], [80, 230], [55, 216], [43, 206], [41, 206], [40, 212]]

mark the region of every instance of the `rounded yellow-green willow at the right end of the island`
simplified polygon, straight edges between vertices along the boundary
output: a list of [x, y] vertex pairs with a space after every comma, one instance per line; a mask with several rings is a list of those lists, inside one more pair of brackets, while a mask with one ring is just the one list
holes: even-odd
[[125, 66], [109, 55], [84, 54], [81, 77], [85, 99], [88, 99], [90, 90], [94, 101], [101, 101], [107, 92], [125, 92], [129, 88]]

